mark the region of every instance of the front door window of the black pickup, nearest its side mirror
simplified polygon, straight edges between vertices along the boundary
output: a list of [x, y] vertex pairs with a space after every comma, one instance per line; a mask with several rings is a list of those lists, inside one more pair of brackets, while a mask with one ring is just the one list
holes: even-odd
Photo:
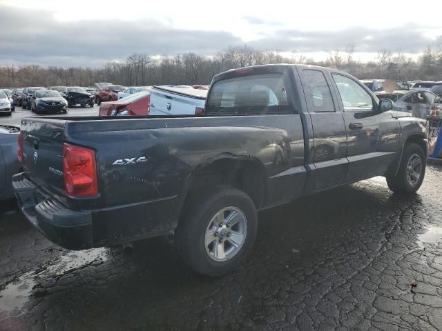
[[371, 112], [374, 109], [372, 96], [356, 81], [340, 74], [332, 74], [338, 87], [345, 112]]

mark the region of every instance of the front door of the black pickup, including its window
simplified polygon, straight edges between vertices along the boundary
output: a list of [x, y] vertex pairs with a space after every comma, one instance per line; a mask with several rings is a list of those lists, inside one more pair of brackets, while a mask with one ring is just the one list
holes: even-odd
[[385, 174], [400, 149], [401, 128], [396, 112], [378, 110], [378, 99], [353, 77], [332, 73], [340, 96], [345, 129], [349, 173], [345, 181]]

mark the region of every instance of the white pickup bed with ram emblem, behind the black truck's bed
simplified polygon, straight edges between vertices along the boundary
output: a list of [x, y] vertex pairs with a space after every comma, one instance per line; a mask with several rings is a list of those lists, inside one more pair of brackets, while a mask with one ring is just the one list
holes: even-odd
[[202, 114], [208, 90], [174, 86], [151, 88], [151, 115]]

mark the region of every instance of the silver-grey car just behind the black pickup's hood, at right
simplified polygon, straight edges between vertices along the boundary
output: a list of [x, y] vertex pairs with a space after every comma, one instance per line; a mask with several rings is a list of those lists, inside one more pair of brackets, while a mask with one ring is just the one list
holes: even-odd
[[394, 102], [394, 110], [410, 112], [415, 117], [421, 119], [427, 119], [432, 110], [435, 110], [435, 101], [439, 101], [439, 98], [436, 98], [436, 94], [422, 88], [410, 91], [376, 92], [375, 94], [379, 99], [392, 100]]

